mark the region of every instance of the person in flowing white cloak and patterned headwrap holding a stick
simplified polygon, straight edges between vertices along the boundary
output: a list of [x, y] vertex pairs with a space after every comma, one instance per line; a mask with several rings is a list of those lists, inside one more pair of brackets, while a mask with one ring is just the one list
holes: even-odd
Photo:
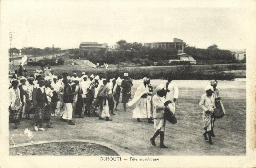
[[151, 113], [151, 96], [148, 97], [149, 93], [149, 78], [143, 78], [143, 84], [141, 84], [135, 91], [134, 98], [127, 103], [128, 107], [136, 103], [136, 107], [133, 110], [132, 118], [137, 118], [138, 122], [141, 122], [140, 118], [148, 118], [150, 120]]

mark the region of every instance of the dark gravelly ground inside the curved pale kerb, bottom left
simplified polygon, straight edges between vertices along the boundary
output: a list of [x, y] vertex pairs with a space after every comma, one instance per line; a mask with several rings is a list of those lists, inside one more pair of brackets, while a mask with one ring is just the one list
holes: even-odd
[[52, 142], [15, 147], [9, 149], [10, 155], [118, 155], [114, 150], [85, 142]]

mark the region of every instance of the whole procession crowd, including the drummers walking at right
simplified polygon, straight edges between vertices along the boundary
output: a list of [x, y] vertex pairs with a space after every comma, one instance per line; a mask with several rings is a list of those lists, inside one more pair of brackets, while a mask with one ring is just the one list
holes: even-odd
[[[27, 77], [27, 74], [20, 77], [15, 71], [10, 83], [9, 122], [14, 123], [15, 129], [19, 126], [20, 118], [32, 120], [35, 131], [45, 131], [43, 123], [46, 123], [47, 128], [53, 128], [51, 121], [53, 116], [60, 116], [61, 120], [69, 125], [75, 125], [72, 121], [73, 115], [79, 118], [88, 116], [112, 121], [110, 115], [115, 115], [113, 110], [114, 108], [117, 110], [122, 93], [121, 103], [124, 111], [127, 111], [126, 106], [131, 107], [135, 104], [132, 117], [138, 122], [141, 122], [141, 118], [146, 118], [148, 123], [154, 124], [151, 144], [156, 146], [155, 138], [160, 135], [160, 147], [168, 148], [164, 145], [166, 123], [164, 113], [168, 109], [175, 114], [175, 103], [179, 94], [178, 85], [171, 76], [168, 77], [165, 86], [160, 84], [156, 88], [152, 87], [148, 77], [144, 77], [133, 98], [131, 97], [133, 83], [128, 73], [124, 73], [122, 77], [115, 75], [114, 78], [103, 78], [102, 73], [87, 76], [85, 72], [81, 77], [76, 73], [69, 76], [65, 72], [56, 76], [49, 67], [45, 67], [36, 70], [30, 77]], [[219, 107], [225, 114], [216, 86], [217, 81], [212, 80], [211, 85], [205, 87], [206, 93], [202, 95], [199, 103], [203, 110], [205, 130], [203, 135], [207, 140], [208, 134], [210, 144], [212, 137], [215, 136], [213, 112]], [[153, 96], [154, 89], [156, 94]], [[30, 118], [31, 114], [33, 118]]]

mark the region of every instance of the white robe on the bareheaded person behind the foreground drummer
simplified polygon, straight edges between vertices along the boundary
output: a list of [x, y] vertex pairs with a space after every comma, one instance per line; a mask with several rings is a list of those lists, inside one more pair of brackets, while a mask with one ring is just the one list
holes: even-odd
[[168, 90], [170, 90], [170, 92], [167, 92], [166, 94], [166, 100], [171, 100], [172, 102], [172, 106], [174, 108], [174, 110], [172, 111], [173, 114], [175, 113], [175, 103], [173, 101], [173, 99], [177, 99], [178, 95], [179, 95], [179, 89], [178, 89], [178, 85], [176, 82], [174, 82], [173, 80], [169, 83]]

